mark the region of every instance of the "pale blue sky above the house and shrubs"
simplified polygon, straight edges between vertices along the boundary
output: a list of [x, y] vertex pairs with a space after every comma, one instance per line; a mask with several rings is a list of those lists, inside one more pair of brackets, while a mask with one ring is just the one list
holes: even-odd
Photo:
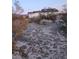
[[[20, 6], [27, 12], [36, 11], [47, 7], [61, 9], [66, 0], [18, 0]], [[15, 0], [12, 0], [12, 4]]]

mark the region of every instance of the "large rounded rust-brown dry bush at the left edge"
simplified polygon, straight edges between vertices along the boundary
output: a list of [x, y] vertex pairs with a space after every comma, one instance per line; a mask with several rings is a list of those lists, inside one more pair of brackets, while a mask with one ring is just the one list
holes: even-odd
[[12, 16], [12, 32], [16, 33], [16, 36], [21, 35], [23, 30], [27, 28], [29, 21], [27, 16], [13, 15]]

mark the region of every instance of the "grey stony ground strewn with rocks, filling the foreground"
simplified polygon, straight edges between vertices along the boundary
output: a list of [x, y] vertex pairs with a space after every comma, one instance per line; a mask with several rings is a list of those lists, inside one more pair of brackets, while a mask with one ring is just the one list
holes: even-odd
[[30, 23], [17, 39], [20, 49], [13, 59], [67, 59], [67, 39], [59, 33], [59, 24]]

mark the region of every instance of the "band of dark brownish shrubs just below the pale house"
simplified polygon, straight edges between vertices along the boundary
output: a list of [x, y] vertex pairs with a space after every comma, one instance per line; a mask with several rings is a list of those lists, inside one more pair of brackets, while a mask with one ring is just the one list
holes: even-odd
[[56, 15], [53, 15], [53, 14], [47, 14], [47, 15], [39, 14], [39, 16], [37, 16], [37, 17], [30, 18], [29, 22], [30, 23], [35, 22], [35, 23], [40, 24], [40, 21], [43, 20], [43, 19], [55, 21], [56, 20]]

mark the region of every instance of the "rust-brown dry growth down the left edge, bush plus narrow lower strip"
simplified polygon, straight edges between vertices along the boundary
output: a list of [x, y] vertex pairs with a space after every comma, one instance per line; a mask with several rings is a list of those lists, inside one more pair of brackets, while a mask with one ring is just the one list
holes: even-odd
[[12, 53], [17, 50], [16, 39], [22, 35], [22, 32], [27, 28], [29, 21], [28, 17], [24, 15], [12, 15], [12, 33], [15, 32], [15, 38], [12, 40]]

